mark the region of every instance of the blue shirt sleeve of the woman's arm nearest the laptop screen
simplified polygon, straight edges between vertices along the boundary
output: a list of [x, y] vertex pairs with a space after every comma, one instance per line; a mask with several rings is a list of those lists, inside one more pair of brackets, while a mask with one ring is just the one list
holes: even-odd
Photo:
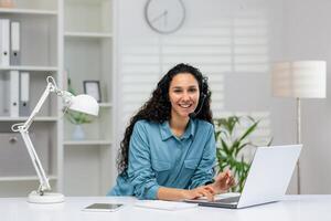
[[207, 131], [207, 139], [203, 148], [202, 159], [194, 171], [189, 189], [203, 186], [213, 180], [215, 176], [214, 166], [216, 165], [216, 145], [214, 127], [211, 126]]

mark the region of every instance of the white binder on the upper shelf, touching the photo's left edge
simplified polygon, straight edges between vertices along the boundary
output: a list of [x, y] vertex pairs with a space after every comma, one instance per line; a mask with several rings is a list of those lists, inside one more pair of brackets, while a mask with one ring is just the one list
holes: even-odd
[[9, 19], [0, 19], [0, 66], [9, 66]]

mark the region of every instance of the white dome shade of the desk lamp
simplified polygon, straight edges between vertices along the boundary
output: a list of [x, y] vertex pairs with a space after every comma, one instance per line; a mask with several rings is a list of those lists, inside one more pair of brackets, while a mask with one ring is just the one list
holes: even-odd
[[93, 116], [97, 116], [99, 114], [99, 105], [97, 101], [87, 94], [74, 96], [68, 108]]

